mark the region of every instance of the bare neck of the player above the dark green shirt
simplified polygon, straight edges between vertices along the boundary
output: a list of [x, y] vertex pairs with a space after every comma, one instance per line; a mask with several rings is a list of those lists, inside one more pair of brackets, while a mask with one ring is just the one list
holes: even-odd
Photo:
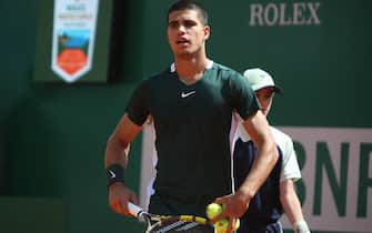
[[185, 84], [192, 84], [203, 77], [204, 71], [211, 62], [207, 57], [192, 59], [179, 58], [175, 59], [174, 65], [180, 80]]

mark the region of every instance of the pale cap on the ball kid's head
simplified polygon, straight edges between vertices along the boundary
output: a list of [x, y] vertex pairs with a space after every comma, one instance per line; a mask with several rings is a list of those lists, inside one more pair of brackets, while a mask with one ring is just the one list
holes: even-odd
[[247, 78], [253, 91], [271, 87], [277, 93], [282, 92], [282, 90], [275, 85], [271, 75], [260, 68], [248, 69], [244, 71], [243, 75]]

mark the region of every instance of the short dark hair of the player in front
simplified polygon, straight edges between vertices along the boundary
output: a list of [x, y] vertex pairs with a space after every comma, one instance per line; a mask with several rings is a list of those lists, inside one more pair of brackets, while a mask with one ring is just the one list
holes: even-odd
[[194, 0], [177, 0], [168, 10], [167, 22], [169, 21], [169, 14], [178, 10], [197, 10], [201, 23], [203, 26], [208, 24], [208, 12], [205, 8]]

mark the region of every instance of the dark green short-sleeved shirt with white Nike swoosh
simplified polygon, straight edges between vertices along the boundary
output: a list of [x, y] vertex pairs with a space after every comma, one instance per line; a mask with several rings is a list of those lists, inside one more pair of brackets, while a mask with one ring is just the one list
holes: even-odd
[[230, 130], [233, 112], [260, 109], [245, 79], [213, 63], [187, 85], [168, 69], [134, 90], [127, 113], [138, 125], [152, 115], [158, 151], [155, 192], [220, 196], [232, 191]]

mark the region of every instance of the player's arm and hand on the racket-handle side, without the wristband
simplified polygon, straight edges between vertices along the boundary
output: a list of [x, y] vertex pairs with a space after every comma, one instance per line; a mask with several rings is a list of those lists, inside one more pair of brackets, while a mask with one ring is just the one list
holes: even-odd
[[[104, 168], [110, 169], [112, 165], [125, 170], [130, 143], [135, 139], [142, 126], [133, 123], [125, 113], [114, 131], [110, 135], [104, 152]], [[109, 172], [109, 171], [108, 171]], [[111, 173], [108, 173], [109, 175]], [[119, 174], [114, 174], [119, 175]], [[117, 213], [130, 215], [128, 211], [128, 202], [131, 201], [138, 204], [138, 197], [133, 191], [125, 186], [123, 180], [113, 182], [109, 185], [109, 204]]]

